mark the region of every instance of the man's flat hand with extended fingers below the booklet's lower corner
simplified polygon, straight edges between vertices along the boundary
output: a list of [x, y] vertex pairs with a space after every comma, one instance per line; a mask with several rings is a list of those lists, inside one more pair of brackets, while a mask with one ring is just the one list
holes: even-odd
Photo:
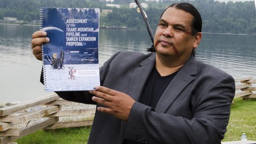
[[95, 90], [89, 90], [89, 92], [94, 95], [92, 98], [94, 102], [106, 106], [98, 107], [98, 111], [128, 121], [132, 105], [135, 103], [130, 96], [101, 86], [97, 86]]

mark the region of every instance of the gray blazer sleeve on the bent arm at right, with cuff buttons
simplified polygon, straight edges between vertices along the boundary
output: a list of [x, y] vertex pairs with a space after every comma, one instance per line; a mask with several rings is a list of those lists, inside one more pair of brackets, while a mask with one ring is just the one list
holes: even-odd
[[191, 119], [157, 113], [152, 107], [135, 102], [125, 138], [148, 144], [220, 144], [234, 93], [231, 76], [219, 79], [199, 97]]

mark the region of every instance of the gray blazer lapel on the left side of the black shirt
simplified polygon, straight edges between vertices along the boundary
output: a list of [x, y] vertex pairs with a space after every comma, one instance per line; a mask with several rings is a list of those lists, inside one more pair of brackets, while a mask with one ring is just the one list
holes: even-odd
[[139, 101], [143, 87], [155, 65], [156, 55], [152, 55], [139, 63], [140, 67], [135, 68], [127, 90], [127, 94], [135, 101]]

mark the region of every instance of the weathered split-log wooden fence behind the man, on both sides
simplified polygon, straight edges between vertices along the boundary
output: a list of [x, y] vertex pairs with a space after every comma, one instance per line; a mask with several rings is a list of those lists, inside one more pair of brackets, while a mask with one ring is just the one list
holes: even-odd
[[[240, 81], [240, 84], [236, 85], [237, 91], [235, 98], [242, 97], [243, 100], [256, 99], [256, 94], [252, 92], [256, 91], [256, 87], [252, 87], [252, 83], [256, 83], [256, 79], [253, 79], [252, 76], [247, 76], [236, 78], [235, 81]], [[61, 105], [66, 104], [78, 103], [63, 100], [59, 98], [57, 94], [51, 94], [0, 109], [0, 144], [8, 144], [13, 140], [24, 137], [25, 135], [33, 133], [39, 129], [46, 130], [92, 125], [93, 120], [59, 122], [59, 116], [95, 114], [95, 109], [61, 110]], [[21, 114], [17, 114], [19, 111], [24, 111], [38, 105], [43, 105], [43, 107], [34, 111], [25, 111]], [[17, 128], [20, 124], [29, 123], [31, 120], [40, 118], [46, 119], [35, 122], [30, 126]]]

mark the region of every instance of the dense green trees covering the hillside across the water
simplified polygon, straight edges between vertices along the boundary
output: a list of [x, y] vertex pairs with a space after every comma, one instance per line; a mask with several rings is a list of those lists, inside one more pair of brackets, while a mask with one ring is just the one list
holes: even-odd
[[[106, 0], [0, 0], [1, 12], [5, 17], [17, 17], [18, 20], [39, 20], [40, 7], [97, 7], [112, 9], [113, 13], [100, 15], [100, 26], [126, 26], [130, 28], [146, 28], [141, 13], [130, 9], [134, 0], [114, 0], [113, 4], [122, 4], [121, 8], [107, 7]], [[219, 2], [215, 0], [162, 0], [150, 2], [144, 11], [153, 30], [158, 25], [163, 10], [172, 3], [189, 2], [200, 12], [205, 32], [214, 33], [256, 33], [256, 10], [253, 1]], [[30, 17], [30, 18], [29, 18]], [[31, 21], [30, 20], [30, 21]]]

